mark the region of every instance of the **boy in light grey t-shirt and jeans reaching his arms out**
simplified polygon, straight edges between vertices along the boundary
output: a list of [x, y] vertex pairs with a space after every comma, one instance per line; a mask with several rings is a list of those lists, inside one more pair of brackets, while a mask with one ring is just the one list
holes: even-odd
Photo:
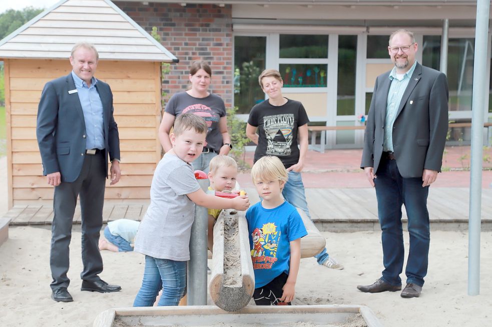
[[197, 115], [183, 114], [174, 122], [173, 148], [154, 172], [150, 205], [135, 241], [134, 251], [145, 254], [145, 270], [134, 307], [152, 307], [161, 289], [159, 306], [177, 306], [183, 297], [195, 203], [242, 211], [249, 207], [247, 196], [223, 199], [207, 195], [198, 185], [190, 163], [202, 152], [206, 135], [207, 124]]

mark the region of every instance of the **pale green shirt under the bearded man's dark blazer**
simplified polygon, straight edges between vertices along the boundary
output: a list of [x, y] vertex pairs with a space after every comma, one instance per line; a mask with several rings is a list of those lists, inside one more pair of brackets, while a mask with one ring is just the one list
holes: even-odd
[[388, 100], [386, 102], [386, 121], [384, 125], [384, 143], [383, 151], [393, 152], [393, 124], [396, 119], [396, 113], [398, 112], [398, 107], [400, 106], [401, 98], [403, 93], [408, 86], [408, 82], [412, 77], [415, 66], [417, 65], [417, 60], [413, 62], [411, 68], [403, 74], [403, 77], [396, 75], [396, 67], [393, 67], [389, 73], [389, 79], [391, 80], [391, 85], [389, 86]]

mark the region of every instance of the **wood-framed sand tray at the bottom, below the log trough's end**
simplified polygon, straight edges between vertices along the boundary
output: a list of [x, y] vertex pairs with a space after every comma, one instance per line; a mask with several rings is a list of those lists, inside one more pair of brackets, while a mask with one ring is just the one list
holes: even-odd
[[364, 306], [248, 306], [226, 312], [215, 306], [109, 309], [94, 327], [382, 327]]

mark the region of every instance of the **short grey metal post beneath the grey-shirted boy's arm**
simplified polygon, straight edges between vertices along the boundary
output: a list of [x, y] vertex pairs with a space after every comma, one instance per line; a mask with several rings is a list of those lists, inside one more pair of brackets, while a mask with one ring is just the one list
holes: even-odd
[[[207, 192], [209, 180], [198, 179], [198, 184]], [[195, 221], [191, 226], [190, 261], [188, 262], [187, 305], [207, 305], [207, 208], [195, 206]]]

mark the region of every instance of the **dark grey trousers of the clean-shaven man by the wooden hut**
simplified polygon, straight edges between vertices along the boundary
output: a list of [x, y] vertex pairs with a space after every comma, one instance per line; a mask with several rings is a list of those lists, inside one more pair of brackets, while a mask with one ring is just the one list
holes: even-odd
[[[103, 259], [99, 251], [99, 233], [103, 226], [103, 203], [105, 176], [105, 151], [96, 155], [86, 155], [79, 178], [73, 183], [62, 182], [55, 187], [53, 209], [55, 217], [52, 224], [50, 267], [53, 282], [52, 290], [68, 287], [70, 279], [69, 246], [72, 238], [77, 197], [80, 195], [82, 211], [82, 263], [80, 274], [86, 281], [98, 281], [103, 271]], [[63, 176], [62, 176], [63, 177]]]

